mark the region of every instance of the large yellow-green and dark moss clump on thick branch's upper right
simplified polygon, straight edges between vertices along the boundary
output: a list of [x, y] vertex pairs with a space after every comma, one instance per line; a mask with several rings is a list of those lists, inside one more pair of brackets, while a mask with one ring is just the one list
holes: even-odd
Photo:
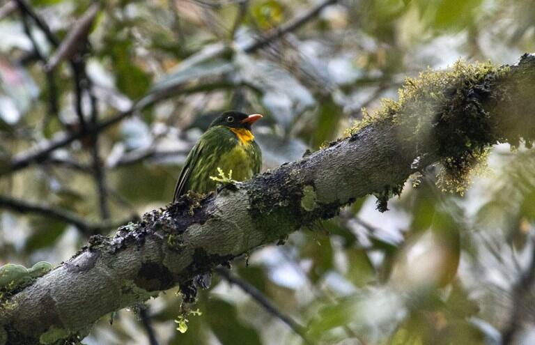
[[[482, 100], [509, 70], [488, 62], [470, 65], [465, 61], [457, 61], [447, 70], [426, 70], [418, 78], [405, 79], [397, 101], [382, 100], [373, 113], [362, 109], [362, 121], [345, 135], [355, 137], [359, 130], [376, 123], [396, 123], [400, 139], [415, 145], [414, 152], [429, 144], [437, 147], [442, 164], [437, 183], [444, 191], [462, 193], [472, 171], [485, 160], [488, 147], [499, 139]], [[389, 191], [378, 193], [384, 199]], [[381, 200], [380, 204], [385, 206]]]

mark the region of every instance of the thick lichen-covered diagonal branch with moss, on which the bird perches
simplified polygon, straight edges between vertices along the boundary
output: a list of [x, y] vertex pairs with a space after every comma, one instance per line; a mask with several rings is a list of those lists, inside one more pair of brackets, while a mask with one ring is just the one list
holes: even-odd
[[[457, 63], [408, 79], [400, 100], [302, 160], [207, 196], [175, 204], [93, 236], [69, 261], [0, 305], [0, 345], [84, 337], [100, 317], [180, 286], [191, 300], [194, 278], [236, 256], [336, 215], [368, 194], [401, 193], [408, 176], [442, 162], [444, 181], [462, 189], [467, 172], [497, 141], [535, 139], [535, 56], [517, 66]], [[5, 289], [5, 287], [4, 287]]]

